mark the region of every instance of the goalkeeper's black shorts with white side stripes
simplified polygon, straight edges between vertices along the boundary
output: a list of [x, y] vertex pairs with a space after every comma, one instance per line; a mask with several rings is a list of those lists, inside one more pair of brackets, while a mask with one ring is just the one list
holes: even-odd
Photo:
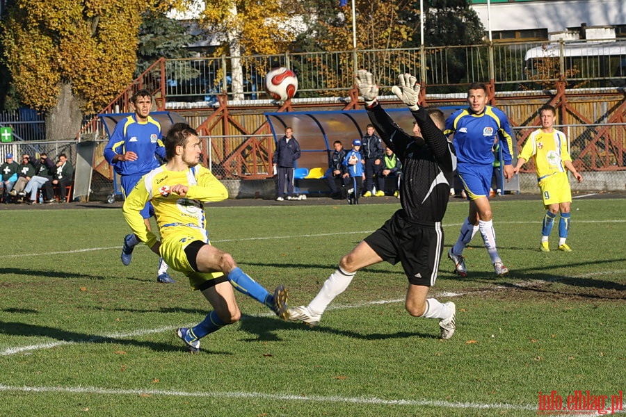
[[440, 222], [412, 222], [399, 210], [364, 241], [383, 261], [400, 262], [411, 284], [435, 285], [444, 242]]

